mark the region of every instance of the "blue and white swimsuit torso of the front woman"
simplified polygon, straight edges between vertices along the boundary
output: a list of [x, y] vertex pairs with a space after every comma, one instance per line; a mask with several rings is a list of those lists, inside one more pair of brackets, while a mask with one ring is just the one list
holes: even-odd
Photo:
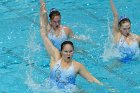
[[62, 68], [61, 59], [51, 69], [50, 80], [58, 88], [65, 88], [66, 85], [75, 85], [76, 72], [74, 62], [68, 68]]

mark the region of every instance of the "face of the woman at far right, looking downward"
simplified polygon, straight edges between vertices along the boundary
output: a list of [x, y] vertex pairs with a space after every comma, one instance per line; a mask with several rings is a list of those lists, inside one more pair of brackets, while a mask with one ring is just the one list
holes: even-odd
[[121, 34], [127, 37], [130, 33], [130, 28], [131, 28], [131, 25], [129, 22], [122, 23], [120, 27]]

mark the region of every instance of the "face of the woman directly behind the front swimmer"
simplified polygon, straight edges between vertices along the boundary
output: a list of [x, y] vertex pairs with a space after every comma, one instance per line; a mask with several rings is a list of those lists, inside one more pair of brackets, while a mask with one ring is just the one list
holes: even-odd
[[54, 16], [54, 18], [51, 19], [51, 26], [54, 29], [59, 28], [60, 27], [60, 24], [61, 24], [61, 17], [60, 16]]

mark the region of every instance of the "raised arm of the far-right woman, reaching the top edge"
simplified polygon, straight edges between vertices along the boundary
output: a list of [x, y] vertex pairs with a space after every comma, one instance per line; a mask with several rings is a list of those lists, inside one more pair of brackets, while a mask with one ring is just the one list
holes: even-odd
[[110, 0], [110, 6], [111, 6], [113, 16], [114, 16], [113, 29], [112, 29], [113, 30], [113, 36], [116, 39], [117, 33], [119, 32], [119, 29], [118, 29], [118, 13], [117, 13], [117, 10], [116, 10], [115, 5], [113, 3], [113, 0]]

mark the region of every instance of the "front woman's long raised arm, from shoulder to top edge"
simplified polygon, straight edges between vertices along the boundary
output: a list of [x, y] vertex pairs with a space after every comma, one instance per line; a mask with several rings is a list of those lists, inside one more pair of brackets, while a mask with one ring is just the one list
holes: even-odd
[[[40, 11], [40, 34], [43, 39], [45, 48], [47, 49], [48, 53], [50, 56], [52, 56], [54, 59], [58, 59], [60, 57], [60, 53], [56, 47], [52, 44], [52, 42], [48, 39], [47, 37], [47, 16], [46, 16], [46, 9], [45, 8], [45, 3], [43, 0], [40, 0], [41, 4], [41, 11]], [[44, 21], [45, 20], [45, 21]]]

